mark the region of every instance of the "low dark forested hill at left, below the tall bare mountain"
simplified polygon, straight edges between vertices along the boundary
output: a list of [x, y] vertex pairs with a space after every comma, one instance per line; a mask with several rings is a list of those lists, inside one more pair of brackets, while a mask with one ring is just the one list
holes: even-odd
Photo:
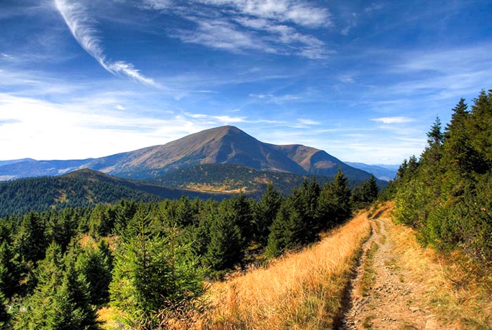
[[120, 199], [160, 201], [163, 198], [215, 198], [231, 194], [204, 193], [166, 188], [148, 182], [111, 177], [94, 170], [78, 170], [57, 177], [34, 177], [0, 182], [0, 217], [23, 214], [30, 210], [78, 208], [97, 203], [115, 203]]

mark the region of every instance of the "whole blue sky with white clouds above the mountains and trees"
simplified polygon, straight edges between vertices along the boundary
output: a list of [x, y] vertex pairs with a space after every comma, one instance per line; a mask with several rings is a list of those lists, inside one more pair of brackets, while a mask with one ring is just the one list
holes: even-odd
[[492, 89], [492, 1], [0, 0], [0, 160], [234, 125], [399, 164]]

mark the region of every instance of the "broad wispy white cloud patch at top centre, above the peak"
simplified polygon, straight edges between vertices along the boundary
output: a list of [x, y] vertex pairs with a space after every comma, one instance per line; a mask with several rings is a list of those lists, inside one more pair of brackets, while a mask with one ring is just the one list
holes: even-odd
[[193, 28], [170, 30], [172, 37], [186, 43], [233, 53], [262, 51], [310, 59], [334, 53], [323, 41], [306, 33], [331, 26], [330, 12], [304, 2], [195, 0], [185, 7], [179, 1], [144, 0], [141, 7], [166, 11], [194, 23]]

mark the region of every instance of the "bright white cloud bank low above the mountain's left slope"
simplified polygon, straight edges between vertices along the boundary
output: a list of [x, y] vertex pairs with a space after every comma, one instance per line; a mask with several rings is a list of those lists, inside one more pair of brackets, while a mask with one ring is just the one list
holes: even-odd
[[112, 110], [114, 103], [97, 106], [98, 99], [92, 101], [60, 104], [0, 93], [1, 158], [108, 156], [164, 144], [212, 127], [174, 115], [161, 119], [134, 116]]

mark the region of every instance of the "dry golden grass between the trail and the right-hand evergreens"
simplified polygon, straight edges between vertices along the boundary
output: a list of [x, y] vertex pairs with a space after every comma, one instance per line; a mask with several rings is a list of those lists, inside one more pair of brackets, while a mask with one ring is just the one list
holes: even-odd
[[408, 227], [387, 228], [406, 281], [422, 284], [422, 305], [431, 306], [446, 329], [492, 329], [490, 272], [479, 273], [479, 267], [459, 252], [444, 256], [422, 248]]

